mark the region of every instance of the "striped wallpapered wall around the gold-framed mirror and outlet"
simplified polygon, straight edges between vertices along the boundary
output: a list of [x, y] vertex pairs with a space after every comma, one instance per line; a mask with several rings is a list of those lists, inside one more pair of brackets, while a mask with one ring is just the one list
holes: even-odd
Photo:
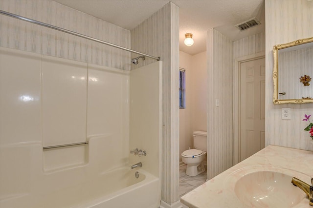
[[[274, 105], [273, 45], [313, 37], [313, 1], [266, 0], [266, 145], [313, 150], [304, 114], [313, 114], [313, 104]], [[297, 78], [298, 79], [298, 78]], [[281, 119], [281, 108], [291, 107], [291, 120]]]

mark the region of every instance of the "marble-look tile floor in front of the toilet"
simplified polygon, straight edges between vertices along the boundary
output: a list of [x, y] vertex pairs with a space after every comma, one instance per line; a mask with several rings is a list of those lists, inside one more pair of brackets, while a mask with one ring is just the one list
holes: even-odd
[[185, 174], [186, 167], [186, 164], [179, 167], [179, 197], [206, 182], [206, 167], [203, 173], [194, 177]]

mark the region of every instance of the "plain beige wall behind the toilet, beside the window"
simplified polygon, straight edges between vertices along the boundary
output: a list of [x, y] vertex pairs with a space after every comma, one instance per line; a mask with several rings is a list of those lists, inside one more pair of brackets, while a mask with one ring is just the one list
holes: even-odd
[[186, 69], [186, 108], [179, 109], [179, 158], [193, 148], [192, 132], [206, 131], [206, 52], [179, 52], [179, 67]]

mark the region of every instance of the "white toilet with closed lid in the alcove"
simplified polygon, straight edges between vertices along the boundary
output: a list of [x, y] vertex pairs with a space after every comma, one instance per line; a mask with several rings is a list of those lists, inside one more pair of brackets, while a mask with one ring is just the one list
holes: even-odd
[[194, 149], [181, 153], [181, 160], [187, 164], [186, 175], [196, 176], [205, 171], [202, 161], [206, 155], [206, 131], [194, 131]]

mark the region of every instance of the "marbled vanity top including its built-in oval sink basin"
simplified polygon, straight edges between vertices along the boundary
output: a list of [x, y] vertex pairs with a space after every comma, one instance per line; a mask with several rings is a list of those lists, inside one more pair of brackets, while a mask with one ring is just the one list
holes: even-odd
[[313, 208], [307, 194], [291, 184], [296, 177], [311, 185], [312, 161], [312, 151], [269, 145], [180, 202], [195, 208]]

